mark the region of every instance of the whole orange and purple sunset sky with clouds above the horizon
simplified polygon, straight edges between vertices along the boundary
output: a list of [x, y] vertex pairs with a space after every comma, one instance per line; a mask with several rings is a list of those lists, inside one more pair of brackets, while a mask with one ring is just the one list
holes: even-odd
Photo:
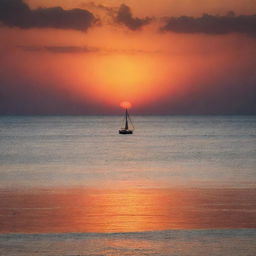
[[256, 0], [0, 0], [0, 114], [256, 114]]

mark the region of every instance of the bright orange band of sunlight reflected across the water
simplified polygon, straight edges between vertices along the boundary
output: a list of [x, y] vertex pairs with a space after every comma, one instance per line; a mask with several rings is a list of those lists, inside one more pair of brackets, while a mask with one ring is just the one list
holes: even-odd
[[1, 233], [255, 228], [256, 223], [253, 189], [58, 189], [0, 195]]

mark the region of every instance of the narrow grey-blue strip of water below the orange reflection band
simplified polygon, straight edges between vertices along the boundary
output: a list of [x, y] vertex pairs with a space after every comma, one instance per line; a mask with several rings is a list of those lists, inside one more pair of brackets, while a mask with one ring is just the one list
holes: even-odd
[[256, 229], [0, 235], [1, 255], [254, 256]]

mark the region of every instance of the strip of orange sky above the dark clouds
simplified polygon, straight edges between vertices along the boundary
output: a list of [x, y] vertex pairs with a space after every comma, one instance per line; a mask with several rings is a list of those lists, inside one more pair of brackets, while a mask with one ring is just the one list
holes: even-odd
[[26, 0], [31, 7], [62, 6], [66, 9], [87, 6], [88, 3], [118, 7], [130, 6], [136, 16], [175, 16], [202, 13], [226, 14], [232, 10], [239, 14], [255, 14], [255, 0]]

